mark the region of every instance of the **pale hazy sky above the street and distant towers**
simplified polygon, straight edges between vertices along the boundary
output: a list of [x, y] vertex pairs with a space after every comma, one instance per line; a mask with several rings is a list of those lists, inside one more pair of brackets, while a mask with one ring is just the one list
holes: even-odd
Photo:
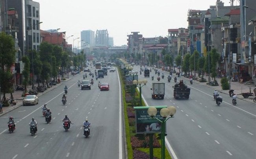
[[[127, 35], [167, 36], [168, 29], [187, 28], [189, 9], [206, 10], [216, 0], [33, 0], [40, 3], [41, 29], [66, 31], [73, 38], [83, 30], [108, 29], [114, 45], [126, 45]], [[222, 0], [230, 5], [230, 0]], [[237, 0], [234, 5], [239, 5]], [[76, 47], [78, 40], [75, 40]]]

